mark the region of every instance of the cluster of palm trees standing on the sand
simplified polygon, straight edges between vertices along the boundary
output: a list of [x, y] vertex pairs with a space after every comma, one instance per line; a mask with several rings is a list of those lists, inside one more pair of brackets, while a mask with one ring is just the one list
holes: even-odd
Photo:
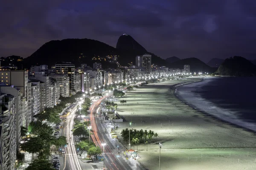
[[[124, 139], [125, 142], [129, 141], [129, 129], [123, 129], [121, 131], [121, 137]], [[152, 130], [136, 130], [134, 128], [130, 129], [130, 143], [132, 146], [137, 146], [138, 149], [138, 145], [140, 143], [147, 144], [147, 143], [151, 143], [152, 139], [155, 139], [155, 142], [157, 143], [157, 137], [158, 134], [154, 133], [154, 131]]]

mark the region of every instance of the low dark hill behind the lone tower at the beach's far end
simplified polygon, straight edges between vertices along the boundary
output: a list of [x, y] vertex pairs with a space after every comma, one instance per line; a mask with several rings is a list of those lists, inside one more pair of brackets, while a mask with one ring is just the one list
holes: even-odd
[[183, 69], [184, 65], [190, 65], [190, 72], [208, 72], [213, 73], [216, 71], [216, 68], [212, 68], [209, 65], [202, 62], [197, 58], [186, 58], [180, 59], [176, 62], [169, 64], [169, 68], [180, 68]]

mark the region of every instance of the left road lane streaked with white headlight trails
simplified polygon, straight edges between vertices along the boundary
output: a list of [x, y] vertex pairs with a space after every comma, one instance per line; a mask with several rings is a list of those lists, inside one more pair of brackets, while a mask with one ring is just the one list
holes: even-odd
[[63, 170], [82, 170], [78, 155], [76, 154], [75, 143], [73, 140], [73, 119], [76, 115], [78, 105], [76, 105], [70, 115], [67, 117], [67, 121], [64, 123], [63, 127], [63, 136], [67, 137], [67, 147], [65, 147], [65, 157], [64, 157], [64, 169]]

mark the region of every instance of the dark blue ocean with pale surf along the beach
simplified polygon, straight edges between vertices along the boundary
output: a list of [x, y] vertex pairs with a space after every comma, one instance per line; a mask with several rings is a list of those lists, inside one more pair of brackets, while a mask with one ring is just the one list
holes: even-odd
[[256, 77], [206, 77], [177, 88], [176, 95], [200, 111], [256, 131]]

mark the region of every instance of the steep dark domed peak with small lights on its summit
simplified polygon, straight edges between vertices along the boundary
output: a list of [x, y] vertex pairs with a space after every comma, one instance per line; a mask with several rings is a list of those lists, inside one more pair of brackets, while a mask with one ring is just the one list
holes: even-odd
[[119, 50], [133, 50], [133, 51], [138, 51], [142, 53], [147, 53], [148, 51], [140, 45], [137, 41], [133, 39], [130, 35], [127, 34], [122, 34], [117, 43], [116, 43], [116, 49]]

